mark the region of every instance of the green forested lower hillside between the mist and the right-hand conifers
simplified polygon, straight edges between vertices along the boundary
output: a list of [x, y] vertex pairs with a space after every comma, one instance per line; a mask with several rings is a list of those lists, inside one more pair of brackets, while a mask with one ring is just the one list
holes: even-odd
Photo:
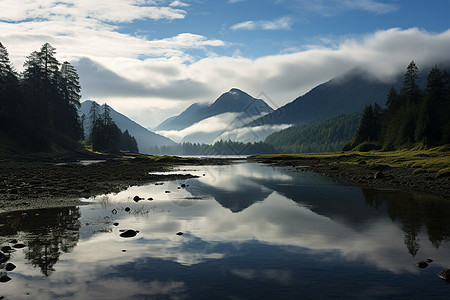
[[285, 153], [338, 151], [354, 136], [359, 119], [360, 114], [351, 113], [319, 123], [293, 126], [269, 135], [264, 142]]

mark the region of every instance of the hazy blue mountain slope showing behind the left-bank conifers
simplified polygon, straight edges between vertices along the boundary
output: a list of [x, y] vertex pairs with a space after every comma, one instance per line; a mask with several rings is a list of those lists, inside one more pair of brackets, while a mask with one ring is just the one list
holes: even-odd
[[[89, 110], [91, 108], [93, 101], [86, 100], [81, 103], [81, 108], [78, 111], [78, 114], [85, 115], [86, 120], [84, 124], [85, 128], [85, 135], [87, 135], [87, 128], [88, 126], [88, 116], [89, 116]], [[138, 123], [130, 120], [125, 115], [115, 111], [113, 108], [111, 108], [111, 118], [116, 123], [116, 125], [120, 128], [120, 130], [125, 131], [128, 130], [130, 135], [134, 136], [136, 138], [136, 141], [138, 143], [139, 152], [141, 153], [151, 153], [153, 150], [153, 147], [158, 146], [172, 146], [175, 145], [175, 142], [172, 141], [169, 138], [166, 138], [162, 135], [156, 134], [154, 132], [151, 132], [150, 130], [142, 127]]]

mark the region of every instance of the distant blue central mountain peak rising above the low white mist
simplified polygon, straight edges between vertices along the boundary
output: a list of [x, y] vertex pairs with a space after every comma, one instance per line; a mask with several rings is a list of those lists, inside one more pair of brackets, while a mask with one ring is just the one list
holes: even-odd
[[159, 124], [155, 131], [183, 130], [195, 123], [225, 113], [242, 113], [246, 117], [259, 117], [273, 109], [263, 100], [233, 88], [222, 94], [213, 104], [194, 103], [178, 116], [170, 117]]

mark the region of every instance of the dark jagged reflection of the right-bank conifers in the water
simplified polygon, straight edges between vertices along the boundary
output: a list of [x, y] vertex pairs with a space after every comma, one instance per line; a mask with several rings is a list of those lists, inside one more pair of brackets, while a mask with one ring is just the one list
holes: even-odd
[[391, 220], [398, 220], [405, 233], [404, 241], [409, 253], [419, 251], [417, 235], [425, 227], [430, 242], [438, 248], [450, 238], [450, 203], [423, 194], [380, 192], [362, 189], [366, 203], [380, 207], [385, 203]]

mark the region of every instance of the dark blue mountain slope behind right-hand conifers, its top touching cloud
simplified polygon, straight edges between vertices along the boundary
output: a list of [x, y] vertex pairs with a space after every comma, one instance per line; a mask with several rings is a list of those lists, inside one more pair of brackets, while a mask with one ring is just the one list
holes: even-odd
[[378, 103], [384, 106], [390, 88], [394, 86], [398, 91], [401, 81], [402, 77], [394, 83], [381, 82], [362, 70], [354, 69], [318, 85], [305, 95], [247, 126], [302, 125], [342, 114], [361, 112], [368, 104]]

